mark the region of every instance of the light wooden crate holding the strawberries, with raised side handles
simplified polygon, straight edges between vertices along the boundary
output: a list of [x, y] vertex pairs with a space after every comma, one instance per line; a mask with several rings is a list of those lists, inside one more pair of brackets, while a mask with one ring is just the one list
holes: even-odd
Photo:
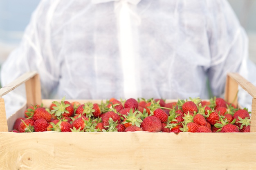
[[[1, 88], [0, 97], [22, 83], [26, 84], [28, 106], [52, 102], [41, 100], [36, 72]], [[14, 133], [8, 127], [11, 130], [27, 105], [7, 120], [0, 98], [0, 170], [255, 170], [256, 87], [229, 73], [228, 102], [234, 99], [238, 85], [253, 97], [250, 133]]]

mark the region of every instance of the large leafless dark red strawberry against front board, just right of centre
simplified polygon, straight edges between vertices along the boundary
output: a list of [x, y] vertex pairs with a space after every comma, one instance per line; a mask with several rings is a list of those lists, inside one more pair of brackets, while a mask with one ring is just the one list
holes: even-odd
[[162, 123], [158, 117], [148, 116], [142, 121], [141, 128], [143, 131], [160, 132], [162, 130]]

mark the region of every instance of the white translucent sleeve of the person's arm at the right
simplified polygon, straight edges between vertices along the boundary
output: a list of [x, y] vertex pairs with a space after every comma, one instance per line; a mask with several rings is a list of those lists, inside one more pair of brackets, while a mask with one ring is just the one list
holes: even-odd
[[[256, 84], [252, 75], [256, 66], [248, 58], [248, 38], [236, 14], [226, 0], [207, 1], [212, 15], [208, 17], [209, 48], [211, 67], [208, 77], [214, 96], [224, 97], [226, 76], [236, 72]], [[238, 102], [242, 107], [251, 108], [252, 97], [239, 90]]]

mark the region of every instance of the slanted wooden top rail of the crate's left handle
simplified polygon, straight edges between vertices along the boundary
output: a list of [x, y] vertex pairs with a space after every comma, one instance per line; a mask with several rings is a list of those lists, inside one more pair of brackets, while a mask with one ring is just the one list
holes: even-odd
[[36, 71], [27, 72], [21, 75], [20, 77], [18, 77], [17, 79], [15, 79], [10, 84], [7, 84], [6, 86], [0, 88], [0, 97], [2, 97], [3, 95], [6, 95], [10, 91], [13, 91], [15, 88], [17, 88], [21, 84], [25, 83], [27, 80], [34, 77], [36, 74], [37, 74]]

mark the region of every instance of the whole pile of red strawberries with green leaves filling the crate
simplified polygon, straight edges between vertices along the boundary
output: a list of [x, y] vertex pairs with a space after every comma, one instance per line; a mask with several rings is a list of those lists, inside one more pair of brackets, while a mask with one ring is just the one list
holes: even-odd
[[16, 120], [12, 132], [250, 132], [250, 115], [222, 98], [112, 98], [101, 104], [52, 102], [49, 108], [31, 106]]

